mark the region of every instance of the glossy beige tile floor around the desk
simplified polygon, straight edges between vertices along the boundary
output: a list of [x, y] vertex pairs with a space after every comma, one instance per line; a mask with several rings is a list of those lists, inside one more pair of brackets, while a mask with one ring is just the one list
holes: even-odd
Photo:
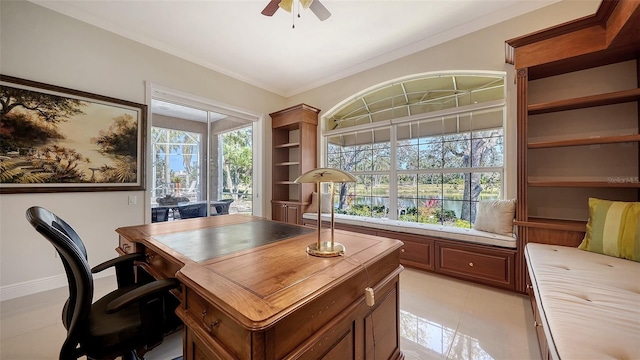
[[[96, 280], [95, 297], [115, 288]], [[65, 330], [66, 289], [0, 303], [0, 359], [57, 359]], [[529, 300], [521, 295], [422, 271], [400, 276], [401, 349], [407, 360], [540, 359]], [[149, 352], [147, 360], [182, 353], [181, 333]]]

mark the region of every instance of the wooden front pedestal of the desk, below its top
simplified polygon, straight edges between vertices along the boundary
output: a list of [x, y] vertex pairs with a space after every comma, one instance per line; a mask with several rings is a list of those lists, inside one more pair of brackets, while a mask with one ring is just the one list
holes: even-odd
[[398, 274], [387, 275], [373, 286], [372, 307], [365, 303], [362, 274], [265, 329], [246, 328], [180, 277], [185, 359], [401, 359]]

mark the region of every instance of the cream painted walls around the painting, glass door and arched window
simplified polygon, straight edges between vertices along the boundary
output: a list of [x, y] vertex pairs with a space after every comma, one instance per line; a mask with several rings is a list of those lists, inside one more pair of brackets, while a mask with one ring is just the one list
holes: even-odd
[[[145, 81], [268, 114], [301, 102], [326, 113], [350, 95], [392, 78], [439, 70], [497, 70], [509, 76], [508, 196], [515, 196], [515, 86], [504, 41], [593, 13], [598, 0], [563, 1], [340, 81], [284, 99], [225, 75], [24, 1], [0, 1], [0, 73], [144, 103]], [[375, 39], [372, 39], [375, 41]], [[265, 129], [271, 121], [265, 116]], [[271, 147], [270, 132], [264, 144]], [[265, 151], [263, 212], [271, 213], [271, 157]], [[127, 205], [129, 195], [138, 203]], [[62, 286], [53, 248], [24, 217], [42, 205], [67, 219], [95, 265], [115, 255], [114, 229], [144, 222], [144, 192], [0, 195], [0, 299]], [[53, 277], [53, 278], [51, 278]]]

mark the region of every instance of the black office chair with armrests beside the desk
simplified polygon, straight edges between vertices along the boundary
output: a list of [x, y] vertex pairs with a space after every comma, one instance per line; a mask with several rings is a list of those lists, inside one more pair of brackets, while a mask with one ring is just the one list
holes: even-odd
[[[69, 281], [69, 298], [62, 309], [67, 338], [60, 359], [138, 359], [180, 327], [175, 315], [179, 301], [169, 292], [176, 279], [136, 283], [134, 261], [144, 254], [129, 254], [93, 269], [78, 234], [50, 211], [34, 206], [27, 210], [31, 225], [56, 248]], [[92, 304], [93, 276], [115, 267], [118, 289]]]

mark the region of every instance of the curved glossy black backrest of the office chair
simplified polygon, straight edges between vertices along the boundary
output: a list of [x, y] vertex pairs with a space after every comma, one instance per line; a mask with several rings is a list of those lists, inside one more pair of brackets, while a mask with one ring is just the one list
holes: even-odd
[[62, 310], [67, 339], [60, 358], [75, 358], [79, 331], [89, 317], [93, 301], [93, 277], [87, 251], [76, 231], [49, 210], [33, 206], [27, 209], [26, 216], [31, 225], [55, 247], [64, 265], [69, 281], [69, 298]]

